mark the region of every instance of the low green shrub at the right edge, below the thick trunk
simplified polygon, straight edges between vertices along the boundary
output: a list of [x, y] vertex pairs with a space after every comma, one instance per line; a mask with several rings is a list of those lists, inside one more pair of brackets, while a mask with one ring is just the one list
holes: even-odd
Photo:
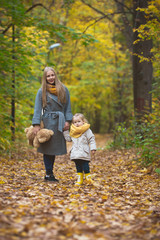
[[113, 131], [114, 141], [111, 147], [137, 149], [139, 161], [145, 166], [158, 164], [160, 158], [160, 111], [159, 101], [153, 103], [153, 113], [146, 114], [141, 123], [131, 120], [130, 126], [125, 123], [117, 125]]

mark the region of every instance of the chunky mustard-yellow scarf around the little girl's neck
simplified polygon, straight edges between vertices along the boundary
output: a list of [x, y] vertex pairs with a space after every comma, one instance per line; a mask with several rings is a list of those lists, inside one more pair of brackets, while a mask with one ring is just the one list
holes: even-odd
[[76, 127], [74, 124], [71, 125], [70, 136], [74, 138], [80, 137], [84, 132], [90, 128], [90, 124], [84, 123], [82, 126]]

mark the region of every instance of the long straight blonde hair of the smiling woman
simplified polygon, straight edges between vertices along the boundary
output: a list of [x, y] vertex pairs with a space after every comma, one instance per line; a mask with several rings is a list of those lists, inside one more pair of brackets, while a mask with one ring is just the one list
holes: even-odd
[[42, 77], [42, 102], [43, 102], [43, 107], [46, 106], [47, 100], [46, 100], [46, 79], [47, 79], [47, 72], [48, 71], [53, 71], [55, 74], [55, 87], [57, 90], [57, 96], [58, 96], [58, 101], [61, 103], [66, 103], [66, 91], [64, 88], [64, 85], [61, 83], [61, 81], [58, 79], [57, 74], [55, 70], [52, 67], [45, 67], [44, 72], [43, 72], [43, 77]]

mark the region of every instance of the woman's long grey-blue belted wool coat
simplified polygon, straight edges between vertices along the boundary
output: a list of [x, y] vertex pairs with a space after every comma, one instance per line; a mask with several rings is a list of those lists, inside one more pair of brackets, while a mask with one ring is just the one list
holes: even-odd
[[32, 125], [40, 124], [43, 121], [44, 128], [54, 131], [51, 139], [45, 143], [41, 143], [37, 149], [38, 152], [48, 155], [63, 155], [67, 153], [66, 140], [63, 136], [63, 128], [66, 121], [72, 120], [70, 94], [66, 91], [66, 103], [62, 104], [58, 101], [58, 97], [54, 94], [46, 92], [47, 104], [42, 109], [42, 88], [36, 95], [34, 115]]

